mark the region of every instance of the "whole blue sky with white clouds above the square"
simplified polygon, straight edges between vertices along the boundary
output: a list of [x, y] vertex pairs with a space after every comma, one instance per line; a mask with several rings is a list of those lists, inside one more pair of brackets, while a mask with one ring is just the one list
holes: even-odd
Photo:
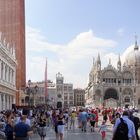
[[27, 79], [44, 80], [47, 57], [49, 79], [60, 71], [65, 82], [84, 88], [92, 57], [99, 52], [103, 65], [109, 57], [114, 64], [139, 36], [139, 5], [139, 0], [26, 0]]

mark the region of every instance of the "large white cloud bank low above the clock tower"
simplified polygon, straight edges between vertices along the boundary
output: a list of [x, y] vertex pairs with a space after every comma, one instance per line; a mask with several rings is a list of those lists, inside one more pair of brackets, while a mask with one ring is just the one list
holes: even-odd
[[56, 73], [61, 72], [66, 83], [85, 88], [93, 56], [99, 52], [107, 59], [108, 49], [116, 46], [115, 41], [97, 37], [92, 30], [80, 33], [65, 45], [49, 43], [37, 29], [26, 30], [27, 79], [32, 81], [44, 80], [47, 57], [49, 79], [55, 79]]

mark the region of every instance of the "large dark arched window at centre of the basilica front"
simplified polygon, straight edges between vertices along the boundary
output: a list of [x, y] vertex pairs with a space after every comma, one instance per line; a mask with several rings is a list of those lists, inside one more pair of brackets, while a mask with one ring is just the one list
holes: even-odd
[[107, 100], [107, 99], [110, 99], [110, 98], [115, 99], [115, 100], [119, 99], [116, 89], [109, 88], [105, 91], [104, 100]]

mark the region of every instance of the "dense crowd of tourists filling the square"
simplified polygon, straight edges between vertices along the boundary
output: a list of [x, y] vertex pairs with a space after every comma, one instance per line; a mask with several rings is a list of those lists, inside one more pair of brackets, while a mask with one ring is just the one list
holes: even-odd
[[[99, 125], [100, 117], [100, 125]], [[102, 119], [101, 119], [102, 118]], [[120, 119], [121, 118], [121, 119]], [[120, 125], [122, 122], [127, 125]], [[79, 110], [14, 110], [1, 111], [0, 136], [7, 140], [29, 140], [37, 133], [41, 140], [47, 135], [47, 127], [51, 127], [56, 139], [64, 139], [64, 129], [74, 130], [78, 124], [81, 132], [99, 132], [102, 140], [106, 138], [108, 125], [112, 125], [112, 140], [139, 140], [138, 129], [140, 120], [135, 109], [123, 110], [121, 108], [81, 108]], [[88, 125], [87, 125], [88, 124]], [[125, 126], [128, 126], [125, 128]], [[120, 130], [126, 130], [119, 139]], [[118, 130], [119, 128], [119, 130]]]

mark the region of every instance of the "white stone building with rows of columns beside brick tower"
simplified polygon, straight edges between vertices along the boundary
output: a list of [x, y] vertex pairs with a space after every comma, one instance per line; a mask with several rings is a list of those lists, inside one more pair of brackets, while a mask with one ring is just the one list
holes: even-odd
[[0, 33], [0, 110], [11, 109], [15, 104], [16, 65], [15, 49]]

